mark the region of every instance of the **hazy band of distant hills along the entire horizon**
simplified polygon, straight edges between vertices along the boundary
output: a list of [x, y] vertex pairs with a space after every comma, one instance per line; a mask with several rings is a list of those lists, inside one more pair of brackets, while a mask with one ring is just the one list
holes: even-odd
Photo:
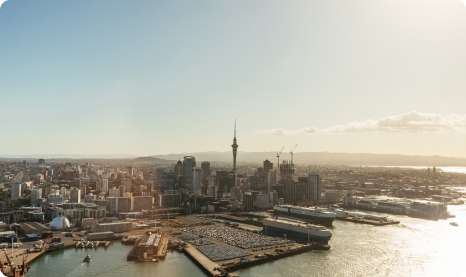
[[[69, 157], [66, 155], [60, 157], [42, 155], [48, 162], [104, 162], [112, 164], [134, 164], [134, 165], [169, 165], [174, 164], [177, 160], [182, 160], [184, 156], [192, 155], [197, 161], [210, 161], [215, 166], [231, 165], [231, 152], [193, 152], [193, 153], [174, 153], [166, 155], [154, 155], [144, 157]], [[36, 161], [37, 156], [20, 156], [20, 157], [0, 157], [0, 161], [10, 160], [28, 160]], [[260, 164], [265, 159], [273, 163], [277, 162], [275, 152], [238, 152], [238, 164]], [[290, 154], [283, 153], [280, 160], [289, 160]], [[466, 158], [443, 157], [443, 156], [416, 156], [416, 155], [398, 155], [398, 154], [370, 154], [370, 153], [330, 153], [330, 152], [297, 152], [294, 154], [296, 164], [314, 164], [314, 165], [379, 165], [379, 166], [466, 166]]]

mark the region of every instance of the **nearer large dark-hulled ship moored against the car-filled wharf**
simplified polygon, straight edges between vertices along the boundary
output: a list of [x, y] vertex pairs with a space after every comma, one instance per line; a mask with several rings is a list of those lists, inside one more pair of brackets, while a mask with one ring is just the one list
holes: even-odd
[[286, 237], [299, 242], [327, 245], [332, 232], [319, 225], [285, 218], [266, 218], [262, 221], [266, 235]]

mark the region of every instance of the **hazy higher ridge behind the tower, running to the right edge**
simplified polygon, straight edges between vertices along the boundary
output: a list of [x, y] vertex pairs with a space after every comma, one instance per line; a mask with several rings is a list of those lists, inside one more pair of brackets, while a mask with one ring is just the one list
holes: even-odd
[[[231, 163], [231, 152], [197, 152], [156, 155], [155, 158], [164, 160], [183, 159], [183, 156], [192, 155], [198, 161], [212, 161]], [[275, 152], [238, 152], [238, 163], [261, 163], [269, 159], [276, 163]], [[289, 160], [290, 154], [283, 153], [280, 160]], [[398, 154], [370, 154], [370, 153], [329, 153], [329, 152], [298, 152], [294, 154], [297, 164], [320, 165], [391, 165], [391, 166], [466, 166], [466, 158], [443, 156], [415, 156]]]

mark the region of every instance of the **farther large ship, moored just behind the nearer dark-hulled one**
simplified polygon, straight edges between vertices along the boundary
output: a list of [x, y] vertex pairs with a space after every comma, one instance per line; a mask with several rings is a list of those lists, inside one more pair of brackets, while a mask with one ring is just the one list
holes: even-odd
[[293, 205], [277, 205], [273, 207], [277, 214], [285, 215], [293, 218], [301, 218], [306, 221], [331, 227], [333, 220], [336, 218], [334, 212], [317, 207], [300, 207]]

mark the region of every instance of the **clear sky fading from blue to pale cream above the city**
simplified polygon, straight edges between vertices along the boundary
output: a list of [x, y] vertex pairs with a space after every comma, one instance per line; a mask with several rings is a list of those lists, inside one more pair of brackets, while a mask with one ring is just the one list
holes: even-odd
[[464, 1], [0, 5], [0, 155], [466, 157]]

